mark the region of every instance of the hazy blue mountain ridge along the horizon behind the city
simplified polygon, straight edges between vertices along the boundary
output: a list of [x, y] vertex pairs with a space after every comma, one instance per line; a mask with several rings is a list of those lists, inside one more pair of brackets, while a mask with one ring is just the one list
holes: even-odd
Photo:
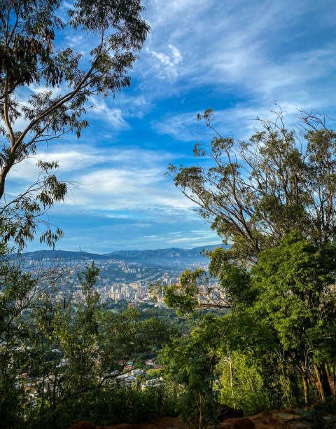
[[116, 252], [97, 254], [88, 252], [71, 252], [68, 250], [38, 250], [36, 252], [27, 252], [21, 256], [27, 259], [92, 259], [108, 260], [116, 259], [125, 262], [137, 262], [146, 266], [186, 266], [188, 264], [204, 263], [207, 258], [200, 254], [202, 250], [214, 250], [223, 245], [212, 245], [194, 247], [193, 249], [179, 249], [171, 247], [169, 249], [156, 250], [118, 250]]

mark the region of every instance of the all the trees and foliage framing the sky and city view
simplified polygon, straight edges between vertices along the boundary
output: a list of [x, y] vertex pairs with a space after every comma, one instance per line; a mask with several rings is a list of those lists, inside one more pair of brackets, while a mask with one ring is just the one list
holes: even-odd
[[[42, 144], [80, 139], [92, 99], [130, 86], [150, 32], [139, 0], [68, 6], [0, 2], [1, 427], [162, 416], [216, 427], [223, 406], [244, 416], [294, 409], [323, 427], [336, 414], [336, 131], [327, 114], [300, 110], [288, 126], [276, 104], [244, 140], [222, 135], [215, 110], [195, 117], [207, 142], [195, 144], [193, 165], [169, 163], [166, 174], [224, 245], [206, 252], [207, 270], [150, 285], [153, 305], [102, 304], [94, 263], [78, 273], [83, 301], [73, 305], [52, 267], [31, 272], [11, 257], [36, 239], [62, 242], [48, 212], [73, 186], [57, 160], [36, 158], [36, 181], [15, 195], [11, 174]], [[55, 46], [66, 29], [92, 36], [87, 57]], [[33, 86], [41, 90], [27, 97]], [[162, 297], [165, 307], [154, 306]]]

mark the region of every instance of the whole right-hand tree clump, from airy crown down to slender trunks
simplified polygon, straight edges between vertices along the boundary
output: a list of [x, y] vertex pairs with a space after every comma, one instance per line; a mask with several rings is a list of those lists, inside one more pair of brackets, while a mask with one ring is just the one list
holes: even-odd
[[[262, 130], [249, 142], [236, 142], [216, 131], [211, 109], [202, 118], [214, 138], [194, 154], [207, 167], [170, 165], [169, 172], [230, 243], [209, 252], [216, 296], [232, 308], [227, 353], [264, 365], [260, 374], [272, 380], [265, 376], [264, 388], [282, 392], [269, 397], [300, 403], [300, 374], [306, 403], [314, 376], [323, 400], [330, 395], [325, 364], [335, 360], [336, 132], [328, 118], [304, 112], [301, 129], [287, 130], [280, 110], [274, 121], [258, 119]], [[200, 275], [184, 278], [192, 281], [167, 288], [167, 303], [190, 312], [200, 304], [193, 287]]]

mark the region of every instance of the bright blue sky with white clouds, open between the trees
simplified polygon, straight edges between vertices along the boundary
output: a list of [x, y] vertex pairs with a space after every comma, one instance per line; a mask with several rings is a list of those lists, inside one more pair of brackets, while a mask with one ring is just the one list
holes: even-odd
[[[132, 84], [95, 98], [80, 139], [41, 147], [58, 160], [69, 196], [48, 213], [64, 238], [56, 248], [113, 250], [196, 247], [220, 238], [165, 176], [167, 165], [195, 165], [204, 136], [196, 114], [211, 107], [223, 135], [248, 139], [255, 118], [277, 102], [286, 123], [298, 109], [335, 114], [335, 0], [145, 0], [151, 25]], [[56, 40], [57, 43], [57, 40]], [[84, 54], [85, 34], [63, 43]], [[38, 91], [31, 86], [31, 91]], [[34, 180], [36, 160], [10, 174], [8, 193]], [[40, 250], [38, 240], [27, 250]]]

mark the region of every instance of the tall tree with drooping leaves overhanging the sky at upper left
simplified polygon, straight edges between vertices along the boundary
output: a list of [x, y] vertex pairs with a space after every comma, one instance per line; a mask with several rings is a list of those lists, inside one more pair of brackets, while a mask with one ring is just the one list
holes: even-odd
[[[149, 30], [141, 19], [140, 0], [77, 0], [65, 14], [61, 6], [68, 7], [59, 0], [3, 0], [0, 4], [0, 227], [3, 240], [13, 238], [19, 248], [34, 238], [38, 217], [54, 201], [64, 199], [66, 184], [55, 176], [56, 161], [39, 161], [36, 183], [5, 202], [8, 173], [34, 156], [43, 142], [66, 132], [80, 137], [88, 125], [83, 115], [90, 97], [114, 95], [130, 86], [127, 71]], [[66, 29], [92, 38], [90, 56], [82, 57], [69, 46], [56, 49], [57, 36]], [[32, 83], [39, 90], [24, 102], [22, 97], [27, 97]], [[24, 125], [18, 125], [19, 118]], [[59, 229], [47, 228], [41, 241], [51, 245], [60, 236]]]

